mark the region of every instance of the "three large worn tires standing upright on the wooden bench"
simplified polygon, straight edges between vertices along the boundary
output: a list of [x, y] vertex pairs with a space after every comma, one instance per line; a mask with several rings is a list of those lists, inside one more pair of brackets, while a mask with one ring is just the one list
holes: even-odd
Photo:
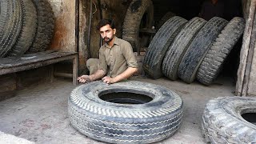
[[0, 0], [0, 58], [46, 50], [54, 12], [46, 0]]

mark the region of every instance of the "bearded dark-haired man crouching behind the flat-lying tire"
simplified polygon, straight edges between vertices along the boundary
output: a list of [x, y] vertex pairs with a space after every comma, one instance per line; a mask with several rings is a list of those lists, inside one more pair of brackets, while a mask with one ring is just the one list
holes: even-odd
[[[129, 42], [115, 36], [114, 21], [102, 19], [97, 26], [105, 44], [99, 50], [99, 60], [89, 59], [86, 66], [90, 70], [98, 63], [98, 70], [90, 75], [78, 77], [78, 81], [85, 83], [102, 78], [107, 84], [120, 82], [138, 71], [138, 63]], [[96, 62], [93, 62], [96, 61]]]

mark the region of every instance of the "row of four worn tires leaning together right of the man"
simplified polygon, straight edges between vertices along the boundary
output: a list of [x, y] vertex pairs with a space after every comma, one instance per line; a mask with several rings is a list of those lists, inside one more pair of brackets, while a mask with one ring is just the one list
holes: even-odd
[[171, 80], [181, 78], [187, 83], [197, 79], [208, 86], [217, 78], [244, 27], [245, 20], [238, 17], [230, 22], [218, 17], [208, 22], [198, 17], [190, 21], [171, 17], [150, 42], [143, 69], [151, 78], [165, 75]]

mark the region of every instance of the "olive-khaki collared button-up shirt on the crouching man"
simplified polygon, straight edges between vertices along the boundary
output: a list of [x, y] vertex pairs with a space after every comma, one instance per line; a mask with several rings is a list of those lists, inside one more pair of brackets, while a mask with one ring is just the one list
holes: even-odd
[[122, 74], [128, 67], [138, 67], [133, 49], [129, 42], [114, 37], [114, 45], [110, 47], [105, 43], [99, 50], [99, 70], [103, 70], [107, 76], [116, 77]]

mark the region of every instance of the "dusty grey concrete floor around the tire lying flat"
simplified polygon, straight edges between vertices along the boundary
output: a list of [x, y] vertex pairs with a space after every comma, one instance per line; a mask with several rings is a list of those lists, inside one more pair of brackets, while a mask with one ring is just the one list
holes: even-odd
[[[217, 83], [212, 86], [202, 86], [198, 82], [173, 82], [167, 78], [131, 79], [166, 86], [179, 94], [184, 101], [180, 129], [174, 136], [157, 142], [158, 144], [204, 143], [200, 125], [206, 102], [211, 98], [234, 95], [234, 84], [230, 78], [218, 78]], [[18, 91], [16, 97], [0, 102], [0, 131], [36, 143], [103, 143], [87, 138], [70, 126], [67, 98], [75, 87], [70, 79], [55, 78], [53, 83]]]

